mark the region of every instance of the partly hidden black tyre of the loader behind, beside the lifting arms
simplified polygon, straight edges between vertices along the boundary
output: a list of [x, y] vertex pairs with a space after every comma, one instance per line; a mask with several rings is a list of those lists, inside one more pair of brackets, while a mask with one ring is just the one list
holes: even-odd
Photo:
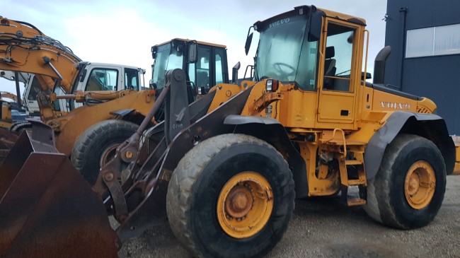
[[93, 124], [76, 140], [71, 153], [71, 163], [91, 185], [96, 183], [102, 165], [113, 158], [116, 147], [130, 138], [138, 125], [123, 120], [105, 120]]

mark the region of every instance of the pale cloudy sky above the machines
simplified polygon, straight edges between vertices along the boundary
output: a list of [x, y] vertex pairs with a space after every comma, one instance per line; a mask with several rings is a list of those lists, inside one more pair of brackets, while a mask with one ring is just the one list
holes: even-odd
[[[0, 0], [0, 16], [35, 25], [85, 61], [127, 64], [146, 69], [151, 77], [150, 47], [174, 37], [227, 46], [229, 67], [253, 62], [244, 42], [248, 28], [295, 6], [315, 5], [367, 20], [369, 65], [384, 47], [386, 0]], [[16, 92], [14, 83], [0, 79], [0, 90]]]

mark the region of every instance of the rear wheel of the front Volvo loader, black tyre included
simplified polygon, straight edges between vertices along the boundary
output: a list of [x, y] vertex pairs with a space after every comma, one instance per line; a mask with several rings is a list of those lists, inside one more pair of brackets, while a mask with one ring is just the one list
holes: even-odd
[[[414, 169], [417, 166], [420, 168]], [[424, 176], [430, 174], [434, 180]], [[427, 178], [431, 183], [420, 183]], [[418, 185], [411, 187], [410, 182], [417, 179]], [[368, 182], [364, 210], [375, 221], [393, 228], [420, 228], [435, 218], [445, 190], [446, 168], [437, 146], [420, 136], [401, 134], [387, 146], [379, 172]]]

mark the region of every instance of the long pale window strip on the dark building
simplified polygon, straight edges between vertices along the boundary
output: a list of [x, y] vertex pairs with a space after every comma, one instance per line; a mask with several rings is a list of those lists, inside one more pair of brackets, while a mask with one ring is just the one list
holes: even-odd
[[406, 58], [460, 54], [460, 24], [407, 31]]

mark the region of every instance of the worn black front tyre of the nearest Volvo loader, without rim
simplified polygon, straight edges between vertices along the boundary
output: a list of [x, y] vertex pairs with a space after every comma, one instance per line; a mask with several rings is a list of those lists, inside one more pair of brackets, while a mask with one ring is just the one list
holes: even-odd
[[[257, 214], [268, 220], [258, 232], [234, 238], [219, 222], [218, 201], [231, 180], [249, 171], [270, 184], [272, 210], [248, 213], [245, 219]], [[232, 189], [237, 187], [244, 188], [236, 184]], [[292, 172], [275, 148], [253, 136], [224, 134], [203, 141], [180, 160], [168, 186], [166, 211], [174, 235], [195, 257], [262, 257], [286, 231], [294, 198]], [[258, 210], [255, 199], [252, 208]]]

